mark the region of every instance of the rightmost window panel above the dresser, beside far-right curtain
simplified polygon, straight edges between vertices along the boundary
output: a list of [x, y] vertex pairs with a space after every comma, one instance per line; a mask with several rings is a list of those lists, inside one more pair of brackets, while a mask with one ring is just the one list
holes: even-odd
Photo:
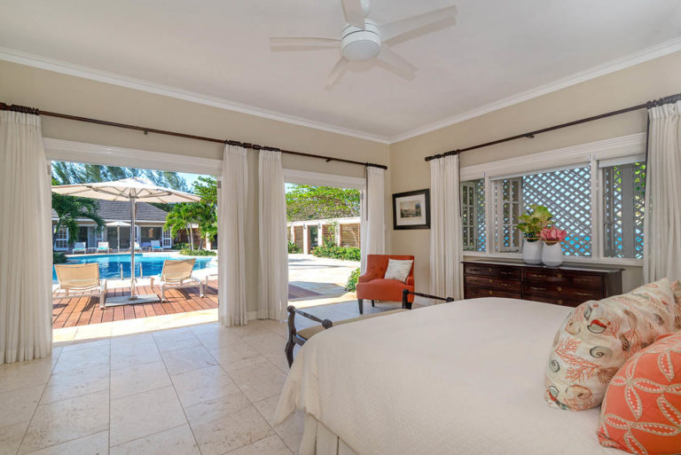
[[604, 255], [643, 258], [646, 164], [603, 167], [601, 178]]

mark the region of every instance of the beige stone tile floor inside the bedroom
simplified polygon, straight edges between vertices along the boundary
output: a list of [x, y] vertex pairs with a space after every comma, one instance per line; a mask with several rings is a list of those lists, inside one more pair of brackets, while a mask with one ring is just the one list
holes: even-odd
[[[309, 310], [355, 317], [356, 302]], [[365, 306], [366, 312], [395, 305]], [[307, 320], [297, 323], [308, 326]], [[274, 426], [286, 325], [216, 323], [113, 336], [0, 365], [0, 455], [291, 455], [301, 413]]]

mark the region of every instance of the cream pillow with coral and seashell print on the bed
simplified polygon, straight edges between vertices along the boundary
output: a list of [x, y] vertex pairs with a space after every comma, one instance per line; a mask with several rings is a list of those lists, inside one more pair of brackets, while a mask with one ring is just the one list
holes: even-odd
[[583, 411], [603, 401], [607, 383], [632, 355], [681, 321], [669, 279], [629, 294], [583, 302], [553, 340], [546, 369], [546, 401]]

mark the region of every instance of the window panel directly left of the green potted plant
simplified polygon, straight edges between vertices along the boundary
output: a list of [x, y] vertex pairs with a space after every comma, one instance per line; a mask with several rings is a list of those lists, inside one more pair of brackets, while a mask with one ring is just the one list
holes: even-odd
[[497, 251], [521, 251], [522, 177], [494, 181], [497, 201]]

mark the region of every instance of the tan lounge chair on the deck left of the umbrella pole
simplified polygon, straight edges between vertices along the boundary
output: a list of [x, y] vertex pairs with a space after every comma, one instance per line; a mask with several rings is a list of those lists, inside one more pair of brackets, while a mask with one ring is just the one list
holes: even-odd
[[[104, 308], [106, 302], [106, 279], [99, 279], [98, 263], [56, 263], [59, 286], [52, 289], [52, 300], [69, 297], [69, 293], [86, 293], [81, 295], [96, 295], [99, 297], [99, 308]], [[89, 294], [88, 294], [89, 293]]]

